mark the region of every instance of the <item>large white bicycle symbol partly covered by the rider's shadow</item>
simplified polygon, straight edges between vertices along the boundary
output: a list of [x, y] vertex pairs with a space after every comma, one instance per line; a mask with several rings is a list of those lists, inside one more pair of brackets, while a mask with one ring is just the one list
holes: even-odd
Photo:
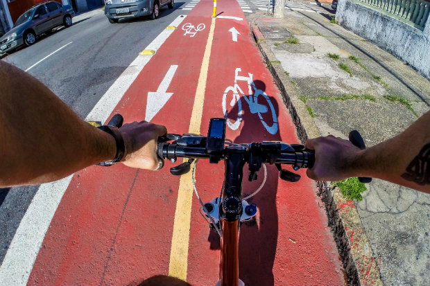
[[[266, 130], [270, 133], [270, 134], [276, 134], [277, 133], [277, 115], [276, 115], [276, 111], [275, 108], [273, 107], [272, 102], [270, 101], [270, 98], [267, 96], [267, 94], [262, 91], [261, 89], [257, 89], [255, 87], [255, 83], [252, 80], [252, 73], [248, 73], [249, 76], [241, 76], [238, 75], [239, 72], [241, 72], [241, 68], [236, 68], [236, 70], [234, 71], [234, 86], [230, 86], [227, 87], [224, 91], [224, 95], [223, 95], [223, 112], [224, 112], [224, 116], [227, 116], [227, 93], [229, 93], [230, 91], [233, 92], [233, 96], [232, 96], [232, 100], [230, 100], [230, 106], [234, 107], [234, 105], [236, 105], [237, 102], [237, 107], [239, 109], [239, 111], [237, 112], [237, 118], [236, 120], [230, 120], [227, 118], [227, 125], [228, 127], [230, 127], [232, 130], [236, 130], [239, 128], [239, 126], [241, 125], [242, 122], [242, 103], [241, 103], [241, 97], [245, 99], [245, 101], [248, 103], [249, 107], [250, 107], [250, 112], [251, 114], [258, 114], [261, 123], [264, 125], [264, 127], [266, 128]], [[246, 81], [248, 84], [248, 94], [249, 96], [246, 96], [243, 91], [241, 90], [241, 88], [239, 87], [239, 84], [237, 84], [237, 82], [241, 80], [241, 81]], [[252, 90], [254, 90], [254, 93], [252, 93]], [[268, 125], [266, 123], [266, 121], [264, 121], [263, 116], [261, 116], [261, 114], [264, 114], [266, 112], [268, 112], [268, 108], [266, 105], [261, 105], [258, 103], [258, 97], [259, 96], [263, 96], [263, 98], [267, 101], [268, 107], [270, 108], [270, 112], [272, 114], [272, 119], [273, 119], [273, 125]]]

